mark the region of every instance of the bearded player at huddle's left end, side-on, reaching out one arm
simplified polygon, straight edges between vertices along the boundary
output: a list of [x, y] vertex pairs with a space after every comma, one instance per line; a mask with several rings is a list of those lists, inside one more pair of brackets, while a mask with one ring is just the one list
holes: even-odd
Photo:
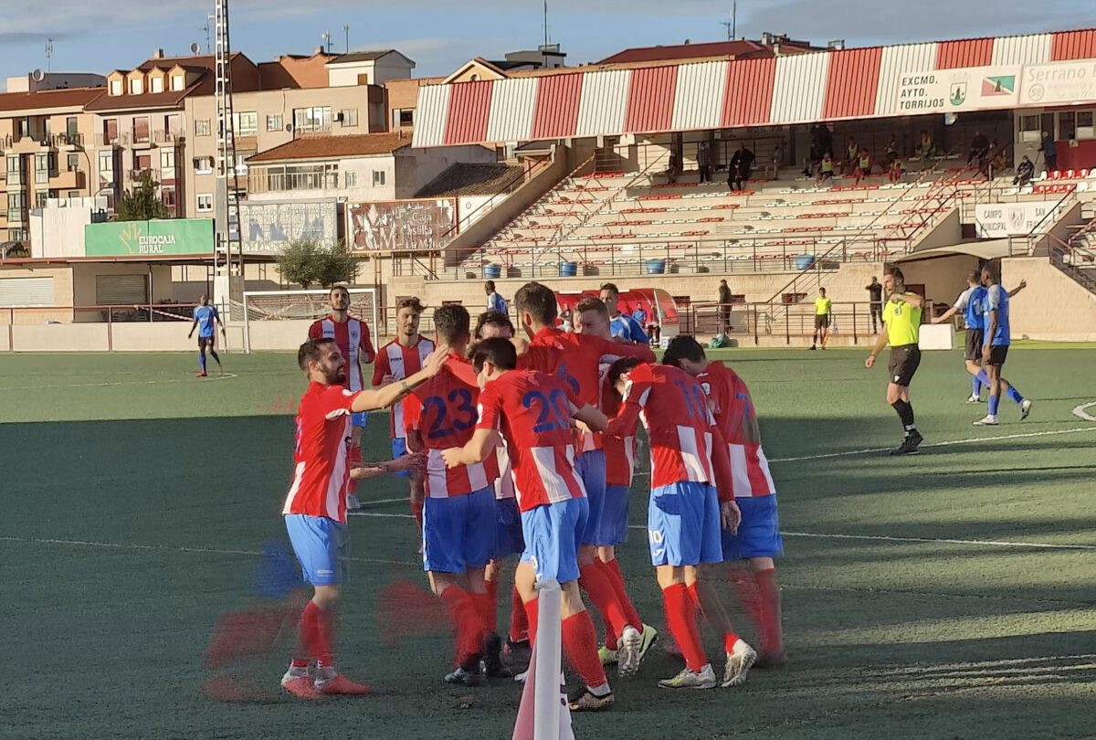
[[[445, 353], [426, 358], [423, 369], [381, 390], [352, 391], [346, 361], [333, 339], [309, 339], [297, 353], [308, 390], [297, 411], [294, 475], [282, 510], [293, 549], [316, 592], [300, 616], [304, 652], [294, 656], [282, 685], [305, 698], [320, 694], [365, 694], [368, 687], [339, 675], [332, 659], [334, 607], [346, 548], [346, 496], [351, 480], [350, 415], [391, 406], [442, 367]], [[315, 680], [309, 661], [317, 662]]]

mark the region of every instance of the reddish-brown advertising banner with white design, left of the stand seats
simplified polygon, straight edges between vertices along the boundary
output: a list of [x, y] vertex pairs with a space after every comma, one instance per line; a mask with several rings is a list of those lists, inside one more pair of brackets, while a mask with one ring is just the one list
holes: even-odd
[[350, 248], [356, 252], [437, 251], [456, 236], [455, 198], [358, 203], [346, 213]]

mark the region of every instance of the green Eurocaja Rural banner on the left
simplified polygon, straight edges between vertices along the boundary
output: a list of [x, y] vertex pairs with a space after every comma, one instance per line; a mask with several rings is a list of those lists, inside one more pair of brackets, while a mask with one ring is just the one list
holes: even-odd
[[212, 218], [111, 221], [83, 227], [87, 257], [213, 254]]

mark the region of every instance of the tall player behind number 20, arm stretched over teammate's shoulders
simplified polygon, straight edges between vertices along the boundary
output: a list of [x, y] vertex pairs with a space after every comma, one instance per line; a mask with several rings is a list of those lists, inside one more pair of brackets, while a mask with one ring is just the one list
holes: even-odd
[[[601, 303], [596, 298], [593, 300]], [[532, 338], [528, 351], [523, 356], [523, 361], [526, 361], [523, 366], [557, 375], [571, 387], [580, 403], [597, 408], [601, 402], [603, 363], [612, 363], [618, 357], [654, 361], [654, 354], [647, 344], [614, 342], [593, 334], [575, 334], [557, 329], [559, 305], [556, 294], [539, 283], [524, 285], [515, 294], [514, 305], [526, 333]], [[643, 626], [632, 625], [628, 621], [612, 581], [597, 566], [596, 533], [602, 524], [605, 502], [605, 453], [602, 449], [601, 434], [582, 433], [574, 467], [586, 488], [590, 505], [579, 549], [579, 584], [601, 613], [602, 621], [610, 625], [613, 631], [620, 637], [619, 672], [623, 676], [631, 675], [639, 670], [644, 653], [643, 635], [640, 631]]]

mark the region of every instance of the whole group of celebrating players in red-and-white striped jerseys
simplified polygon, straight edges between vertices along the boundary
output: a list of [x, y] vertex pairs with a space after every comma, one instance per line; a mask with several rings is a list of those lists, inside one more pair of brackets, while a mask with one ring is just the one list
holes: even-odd
[[[783, 546], [750, 391], [692, 337], [670, 342], [661, 364], [646, 341], [615, 337], [615, 286], [602, 292], [612, 308], [580, 301], [568, 332], [557, 327], [552, 291], [529, 283], [514, 296], [524, 335], [505, 312], [488, 310], [473, 328], [466, 308], [444, 305], [433, 315], [436, 343], [419, 332], [422, 305], [403, 299], [397, 338], [376, 353], [368, 328], [349, 316], [349, 292], [332, 288], [331, 316], [298, 352], [309, 386], [283, 513], [315, 594], [300, 615], [286, 691], [302, 698], [368, 693], [333, 661], [346, 512], [356, 480], [396, 473], [411, 479], [423, 567], [454, 626], [455, 665], [445, 680], [479, 685], [511, 675], [503, 653], [535, 644], [538, 587], [555, 580], [563, 654], [582, 682], [570, 708], [610, 707], [605, 665], [636, 674], [659, 638], [629, 596], [615, 549], [628, 533], [639, 423], [650, 444], [651, 562], [685, 663], [659, 685], [738, 686], [751, 668], [784, 662], [773, 560]], [[374, 362], [369, 389], [363, 361]], [[389, 407], [395, 459], [365, 463], [364, 414]], [[498, 587], [514, 556], [504, 641]], [[731, 565], [741, 561], [745, 568]], [[730, 578], [716, 570], [723, 562]], [[715, 588], [722, 580], [739, 587], [760, 653], [734, 631]], [[582, 592], [605, 626], [603, 642]], [[721, 679], [701, 646], [698, 614], [722, 636]]]

